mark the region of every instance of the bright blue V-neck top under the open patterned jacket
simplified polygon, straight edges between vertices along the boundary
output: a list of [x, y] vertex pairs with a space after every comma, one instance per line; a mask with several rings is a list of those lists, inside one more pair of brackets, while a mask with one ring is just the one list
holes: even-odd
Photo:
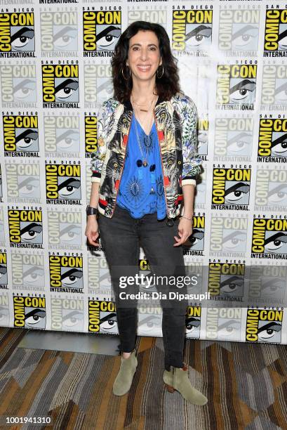
[[[135, 126], [138, 128], [142, 152], [139, 148]], [[142, 154], [148, 162], [147, 167], [137, 165], [138, 160], [143, 162]], [[133, 115], [128, 135], [124, 171], [121, 175], [116, 204], [128, 210], [135, 219], [154, 213], [157, 214], [157, 219], [166, 217], [166, 200], [156, 126], [154, 123], [147, 136], [135, 115]]]

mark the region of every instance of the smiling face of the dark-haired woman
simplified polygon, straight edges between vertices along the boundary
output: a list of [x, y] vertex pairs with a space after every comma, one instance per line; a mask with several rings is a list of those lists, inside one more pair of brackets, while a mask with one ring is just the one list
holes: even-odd
[[154, 32], [140, 30], [131, 37], [126, 65], [131, 68], [133, 82], [155, 80], [161, 63], [159, 40]]

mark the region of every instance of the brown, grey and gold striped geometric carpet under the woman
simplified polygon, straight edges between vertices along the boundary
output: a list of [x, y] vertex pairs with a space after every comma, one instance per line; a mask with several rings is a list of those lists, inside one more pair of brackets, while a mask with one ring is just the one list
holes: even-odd
[[[112, 394], [120, 357], [18, 348], [26, 330], [0, 327], [0, 429], [287, 429], [287, 346], [188, 340], [189, 379], [207, 397], [189, 405], [163, 388], [161, 338], [138, 338], [126, 396]], [[4, 426], [6, 417], [53, 424]]]

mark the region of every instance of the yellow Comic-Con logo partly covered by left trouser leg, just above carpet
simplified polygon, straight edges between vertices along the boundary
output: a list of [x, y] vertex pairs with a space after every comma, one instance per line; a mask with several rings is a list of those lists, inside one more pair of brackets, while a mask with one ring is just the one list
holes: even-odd
[[116, 305], [113, 301], [88, 301], [88, 332], [118, 333]]

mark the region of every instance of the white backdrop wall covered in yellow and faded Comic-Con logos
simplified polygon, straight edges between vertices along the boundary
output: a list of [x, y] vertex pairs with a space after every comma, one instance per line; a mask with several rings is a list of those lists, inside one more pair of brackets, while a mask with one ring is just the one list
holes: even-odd
[[[186, 336], [287, 344], [286, 3], [1, 0], [0, 9], [0, 325], [118, 332], [85, 209], [114, 46], [145, 20], [166, 28], [199, 110]], [[143, 252], [139, 273], [151, 273]], [[138, 314], [138, 334], [161, 337], [159, 302]]]

